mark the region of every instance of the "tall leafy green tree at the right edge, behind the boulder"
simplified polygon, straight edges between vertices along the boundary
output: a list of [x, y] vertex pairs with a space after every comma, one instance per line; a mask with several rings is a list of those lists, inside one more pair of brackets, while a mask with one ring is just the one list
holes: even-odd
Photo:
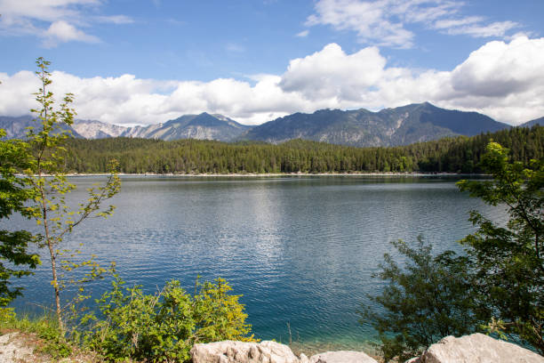
[[475, 233], [460, 242], [474, 262], [488, 329], [544, 355], [544, 158], [513, 162], [496, 142], [481, 166], [492, 181], [460, 181], [460, 190], [491, 206], [506, 207], [508, 223], [470, 213]]

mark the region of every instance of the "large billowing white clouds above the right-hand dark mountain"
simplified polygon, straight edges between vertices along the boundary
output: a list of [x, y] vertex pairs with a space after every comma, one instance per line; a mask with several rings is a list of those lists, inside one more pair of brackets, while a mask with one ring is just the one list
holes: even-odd
[[292, 60], [280, 85], [341, 109], [431, 101], [520, 124], [544, 116], [544, 38], [492, 41], [452, 71], [388, 67], [378, 48], [346, 54], [337, 44]]

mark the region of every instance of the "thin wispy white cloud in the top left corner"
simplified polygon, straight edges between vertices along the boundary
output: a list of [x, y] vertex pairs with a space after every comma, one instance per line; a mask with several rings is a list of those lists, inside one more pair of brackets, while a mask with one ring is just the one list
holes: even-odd
[[92, 15], [100, 5], [100, 0], [0, 0], [0, 35], [41, 37], [45, 47], [72, 41], [97, 43], [100, 39], [82, 28], [133, 21], [125, 15]]

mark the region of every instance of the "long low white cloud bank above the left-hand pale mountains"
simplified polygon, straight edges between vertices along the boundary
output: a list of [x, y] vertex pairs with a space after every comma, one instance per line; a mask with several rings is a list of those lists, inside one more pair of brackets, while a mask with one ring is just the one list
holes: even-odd
[[[149, 125], [183, 114], [204, 111], [236, 116], [260, 124], [298, 110], [312, 110], [312, 101], [279, 87], [281, 77], [261, 75], [256, 85], [232, 78], [212, 82], [156, 81], [132, 75], [82, 78], [52, 72], [52, 92], [60, 100], [74, 93], [77, 117], [110, 124]], [[33, 72], [0, 73], [0, 115], [24, 115], [36, 107], [32, 93], [39, 84]], [[22, 101], [21, 101], [22, 100]]]

